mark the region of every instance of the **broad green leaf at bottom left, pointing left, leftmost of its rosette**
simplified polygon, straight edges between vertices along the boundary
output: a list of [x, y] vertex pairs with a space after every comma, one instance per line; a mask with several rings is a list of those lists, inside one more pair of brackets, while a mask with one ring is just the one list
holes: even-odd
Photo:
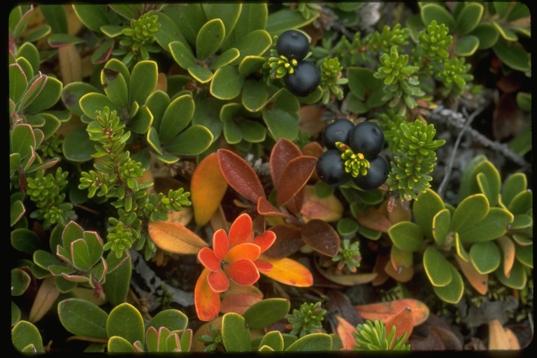
[[108, 339], [108, 314], [85, 299], [64, 299], [58, 303], [59, 321], [64, 328], [77, 336]]

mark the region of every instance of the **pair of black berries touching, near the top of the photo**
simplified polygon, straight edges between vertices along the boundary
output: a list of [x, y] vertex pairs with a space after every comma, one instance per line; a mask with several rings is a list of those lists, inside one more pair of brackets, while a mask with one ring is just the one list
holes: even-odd
[[287, 90], [299, 97], [312, 94], [321, 83], [321, 72], [313, 62], [302, 61], [310, 51], [310, 43], [306, 35], [296, 30], [285, 31], [278, 36], [276, 50], [278, 50], [278, 55], [287, 57], [289, 61], [296, 59], [298, 62], [294, 67], [294, 72], [285, 76]]

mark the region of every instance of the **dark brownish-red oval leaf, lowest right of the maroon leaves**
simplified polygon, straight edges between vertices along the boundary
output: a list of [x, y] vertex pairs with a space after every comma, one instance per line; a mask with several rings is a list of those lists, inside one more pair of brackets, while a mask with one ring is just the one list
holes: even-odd
[[322, 220], [310, 220], [302, 227], [302, 240], [313, 250], [334, 257], [339, 251], [339, 235], [334, 228]]

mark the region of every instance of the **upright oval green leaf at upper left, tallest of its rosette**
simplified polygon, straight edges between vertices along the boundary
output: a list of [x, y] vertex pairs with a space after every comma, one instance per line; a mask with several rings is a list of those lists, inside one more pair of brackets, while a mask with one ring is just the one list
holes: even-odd
[[136, 101], [142, 105], [157, 87], [158, 77], [159, 71], [156, 62], [141, 61], [135, 64], [131, 73], [129, 103]]

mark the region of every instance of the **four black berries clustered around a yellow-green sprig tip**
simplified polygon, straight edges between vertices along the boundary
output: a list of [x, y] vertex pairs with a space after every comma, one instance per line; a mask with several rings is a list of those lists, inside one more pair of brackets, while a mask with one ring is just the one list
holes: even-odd
[[389, 173], [386, 160], [379, 155], [384, 141], [382, 129], [373, 122], [355, 125], [345, 118], [334, 120], [322, 131], [322, 143], [328, 151], [317, 160], [319, 178], [332, 187], [351, 178], [362, 190], [380, 187]]

